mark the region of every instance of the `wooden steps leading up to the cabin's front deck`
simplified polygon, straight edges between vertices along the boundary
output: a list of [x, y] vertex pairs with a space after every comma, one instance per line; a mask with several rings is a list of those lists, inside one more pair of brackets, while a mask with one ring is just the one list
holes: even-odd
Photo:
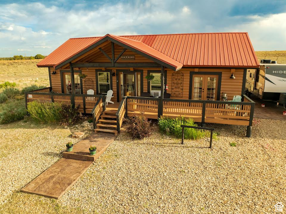
[[96, 129], [94, 132], [107, 132], [114, 133], [117, 135], [117, 121], [116, 121], [116, 110], [105, 110], [100, 115], [100, 119], [97, 121]]

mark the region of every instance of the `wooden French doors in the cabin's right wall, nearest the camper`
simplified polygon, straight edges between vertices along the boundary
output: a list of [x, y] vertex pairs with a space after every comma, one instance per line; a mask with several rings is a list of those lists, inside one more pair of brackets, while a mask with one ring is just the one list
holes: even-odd
[[218, 75], [194, 74], [192, 83], [193, 100], [217, 100]]

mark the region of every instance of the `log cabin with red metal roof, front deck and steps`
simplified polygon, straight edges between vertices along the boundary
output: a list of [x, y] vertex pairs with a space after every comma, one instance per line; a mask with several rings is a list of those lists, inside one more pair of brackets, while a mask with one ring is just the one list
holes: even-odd
[[[80, 105], [96, 132], [117, 134], [123, 118], [144, 111], [151, 119], [245, 125], [251, 136], [246, 71], [259, 63], [246, 32], [71, 38], [37, 66], [48, 68], [50, 87], [25, 92], [26, 104]], [[105, 102], [108, 90], [114, 104]]]

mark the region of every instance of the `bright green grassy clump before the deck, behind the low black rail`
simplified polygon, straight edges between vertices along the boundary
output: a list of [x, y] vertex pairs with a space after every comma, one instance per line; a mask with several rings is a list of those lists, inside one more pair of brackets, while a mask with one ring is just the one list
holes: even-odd
[[[182, 127], [181, 125], [186, 126], [197, 126], [194, 123], [192, 118], [185, 119], [185, 118], [175, 118], [169, 119], [161, 117], [158, 119], [158, 125], [162, 132], [166, 133], [167, 135], [175, 135], [177, 138], [182, 137]], [[184, 130], [184, 138], [185, 139], [200, 139], [205, 136], [205, 132], [201, 129], [192, 129], [192, 128], [185, 128]]]

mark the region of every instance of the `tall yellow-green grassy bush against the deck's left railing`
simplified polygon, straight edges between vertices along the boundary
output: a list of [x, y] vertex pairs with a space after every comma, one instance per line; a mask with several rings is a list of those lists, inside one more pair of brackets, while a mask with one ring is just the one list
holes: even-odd
[[60, 103], [39, 103], [33, 101], [27, 104], [27, 111], [37, 122], [58, 123], [62, 118]]

